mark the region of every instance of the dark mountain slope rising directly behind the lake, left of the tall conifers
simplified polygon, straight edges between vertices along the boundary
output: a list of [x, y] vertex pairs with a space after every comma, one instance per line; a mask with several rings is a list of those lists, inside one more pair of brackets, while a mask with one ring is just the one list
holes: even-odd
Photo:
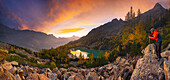
[[[82, 47], [94, 48], [95, 46], [98, 46], [98, 43], [104, 42], [101, 41], [103, 38], [110, 39], [112, 35], [120, 34], [123, 26], [124, 21], [122, 19], [113, 19], [111, 22], [92, 29], [86, 36], [70, 42], [69, 44], [81, 43]], [[100, 46], [100, 48], [101, 47], [102, 46]]]

